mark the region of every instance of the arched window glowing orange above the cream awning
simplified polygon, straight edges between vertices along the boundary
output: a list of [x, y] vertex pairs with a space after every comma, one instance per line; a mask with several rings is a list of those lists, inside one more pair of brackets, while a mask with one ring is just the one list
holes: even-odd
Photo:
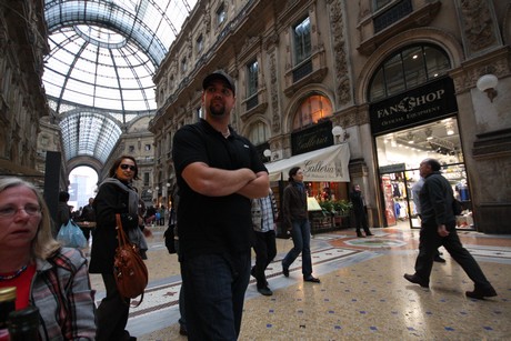
[[321, 94], [312, 94], [298, 108], [292, 129], [299, 130], [309, 124], [318, 123], [318, 121], [331, 117], [332, 112], [332, 103], [328, 98]]

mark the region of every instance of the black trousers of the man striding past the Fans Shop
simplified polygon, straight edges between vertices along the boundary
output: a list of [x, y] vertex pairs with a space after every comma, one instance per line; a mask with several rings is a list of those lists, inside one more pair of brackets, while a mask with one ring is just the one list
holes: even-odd
[[437, 231], [437, 225], [422, 224], [419, 241], [419, 255], [415, 260], [415, 275], [429, 282], [431, 269], [433, 268], [433, 257], [438, 252], [437, 249], [443, 245], [449, 254], [461, 265], [467, 275], [475, 283], [475, 288], [491, 288], [490, 282], [478, 262], [475, 262], [472, 254], [461, 244], [460, 238], [455, 231], [455, 221], [449, 222], [445, 228], [449, 231], [449, 235], [440, 237]]

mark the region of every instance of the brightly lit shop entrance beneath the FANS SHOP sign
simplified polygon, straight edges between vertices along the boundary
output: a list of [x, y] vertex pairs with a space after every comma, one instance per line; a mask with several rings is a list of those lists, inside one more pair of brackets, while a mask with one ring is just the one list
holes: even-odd
[[420, 228], [412, 188], [420, 180], [420, 162], [433, 158], [442, 164], [442, 174], [464, 209], [457, 217], [458, 229], [473, 229], [470, 191], [454, 117], [387, 133], [377, 137], [375, 142], [388, 227], [409, 222], [412, 228]]

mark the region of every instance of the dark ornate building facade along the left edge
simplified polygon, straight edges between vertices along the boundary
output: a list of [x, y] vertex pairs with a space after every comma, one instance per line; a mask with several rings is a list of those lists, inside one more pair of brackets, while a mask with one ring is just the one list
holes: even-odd
[[42, 88], [48, 53], [43, 1], [0, 3], [0, 172], [43, 181], [39, 119], [49, 109]]

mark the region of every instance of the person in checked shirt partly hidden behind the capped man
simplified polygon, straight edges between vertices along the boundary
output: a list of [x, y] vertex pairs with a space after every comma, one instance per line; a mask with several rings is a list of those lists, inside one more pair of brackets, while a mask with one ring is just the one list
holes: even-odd
[[274, 229], [277, 218], [277, 201], [271, 189], [267, 197], [252, 200], [255, 265], [252, 267], [250, 273], [257, 279], [258, 291], [263, 295], [273, 294], [268, 287], [264, 271], [277, 255]]

